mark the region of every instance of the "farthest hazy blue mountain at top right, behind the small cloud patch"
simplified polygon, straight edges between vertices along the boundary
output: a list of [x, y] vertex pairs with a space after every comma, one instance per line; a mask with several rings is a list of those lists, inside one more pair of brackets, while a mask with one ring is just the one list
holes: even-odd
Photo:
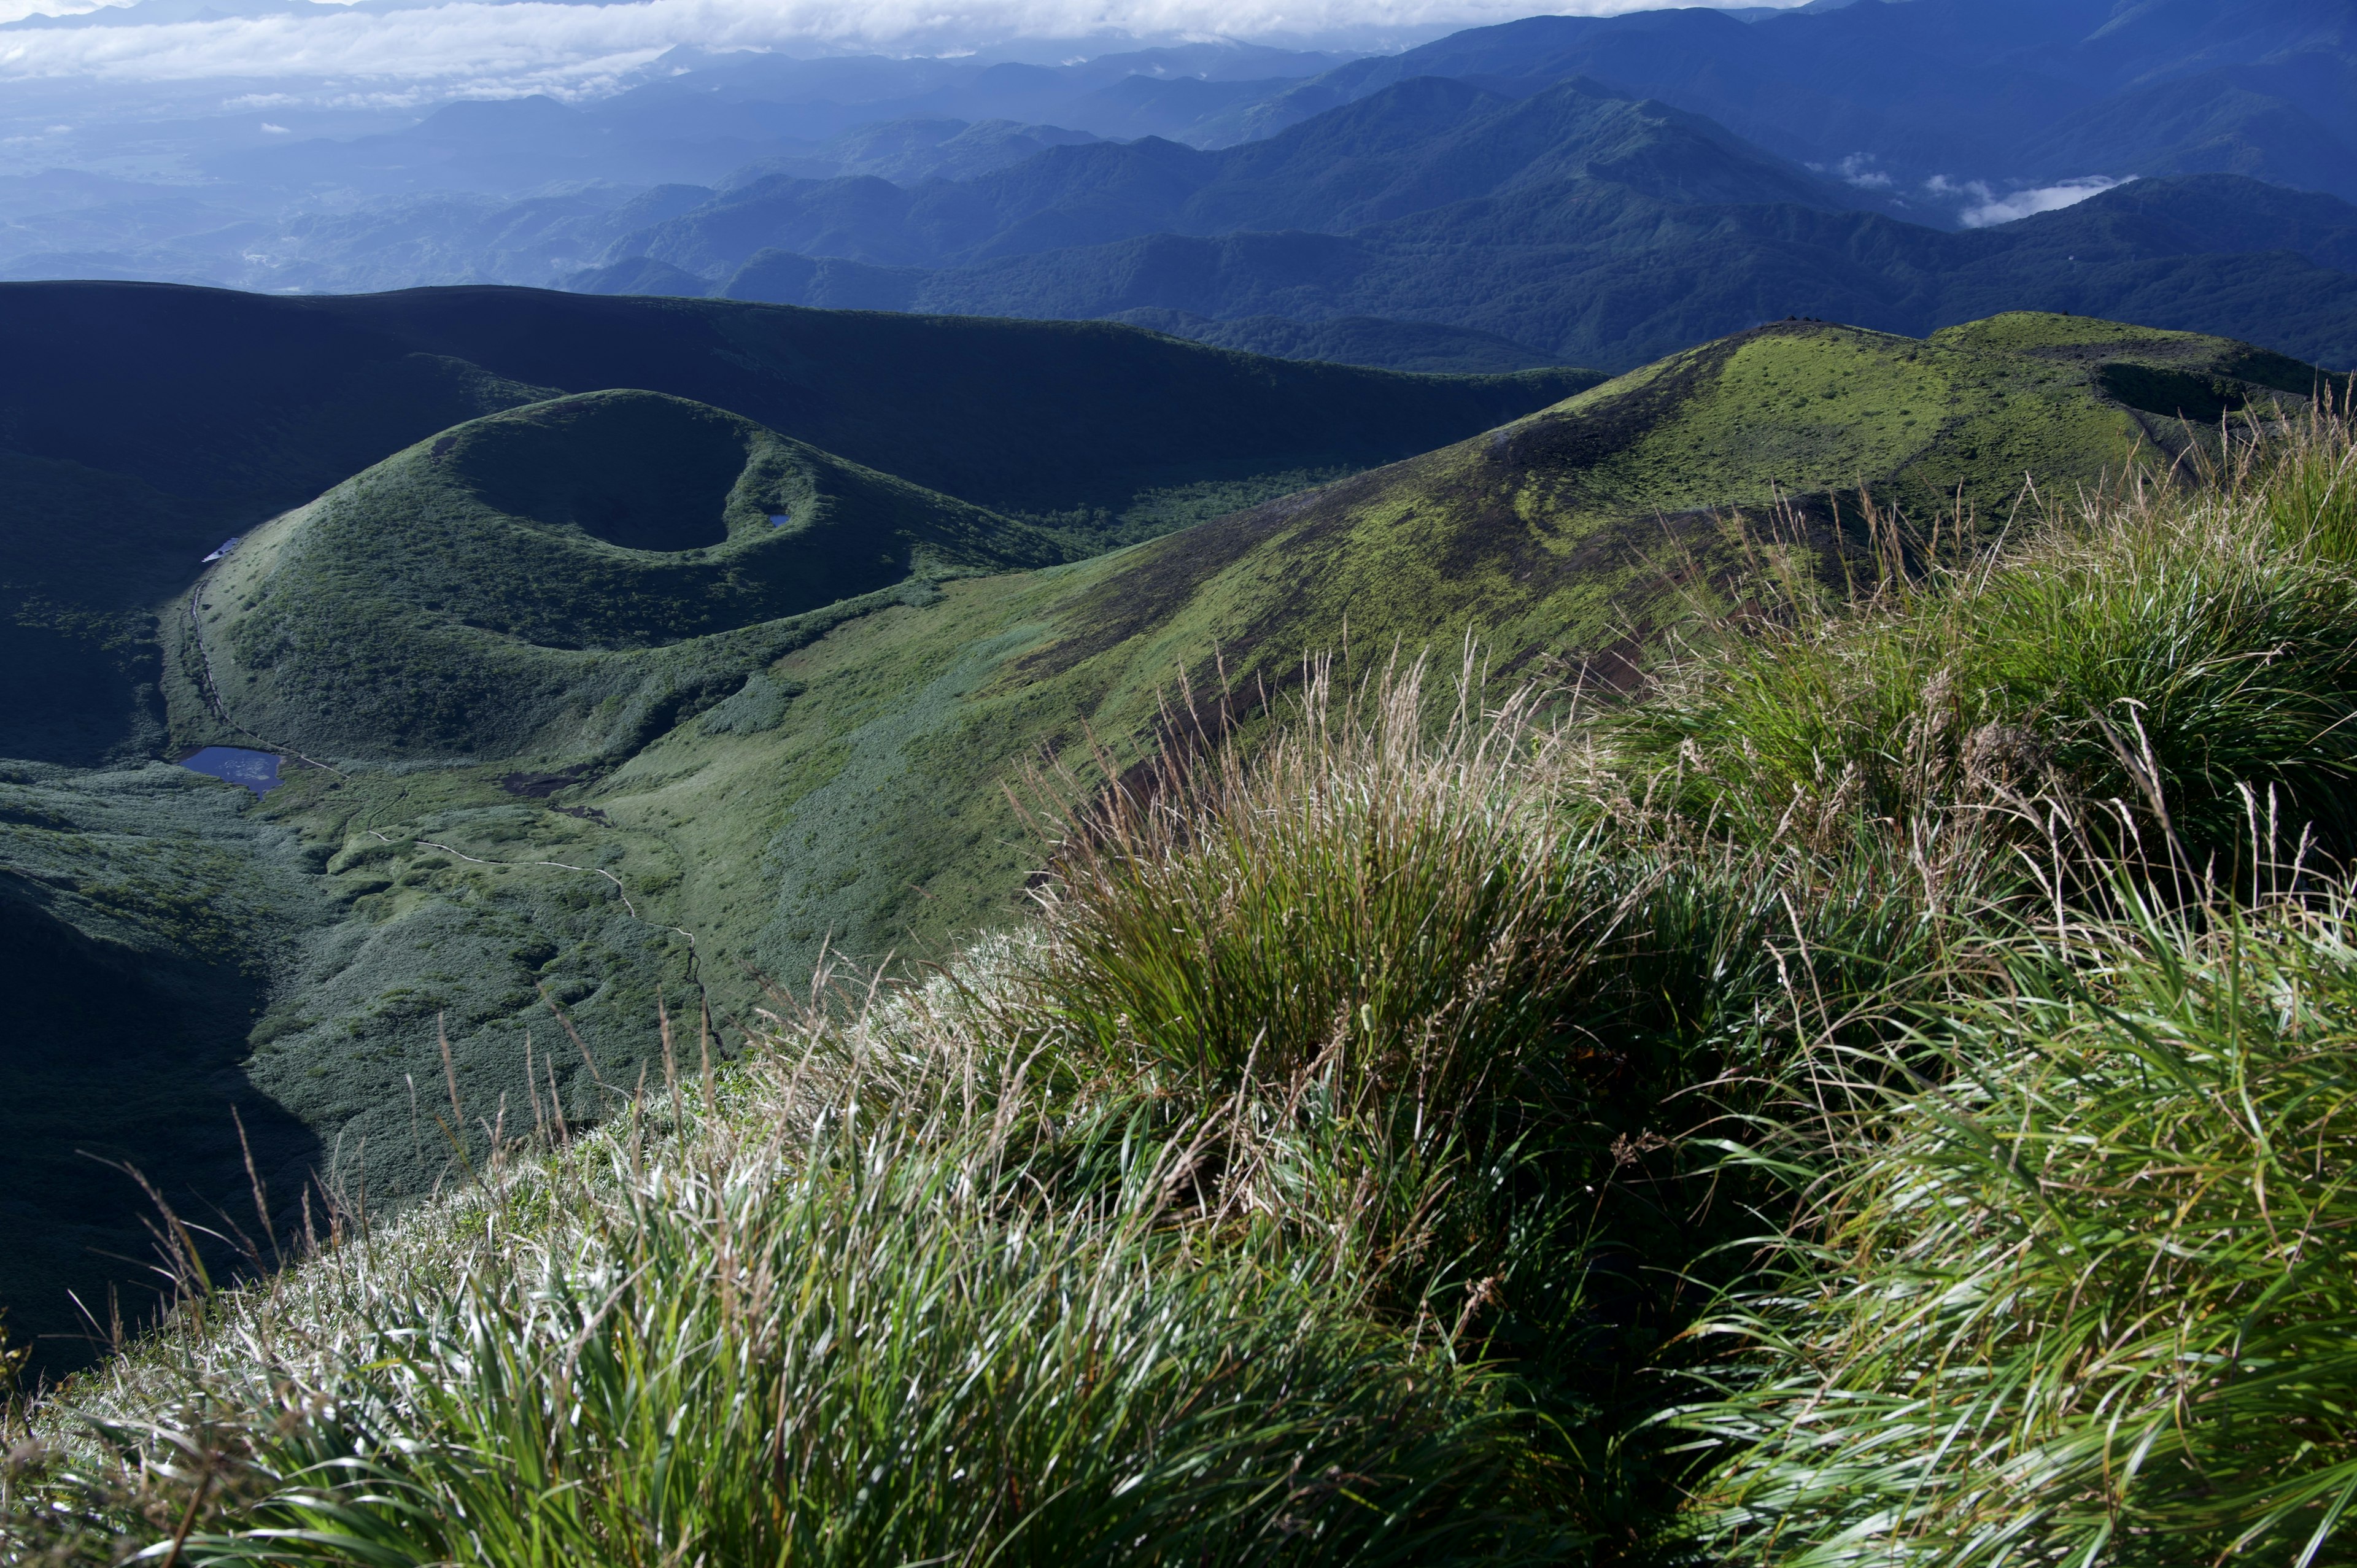
[[[1237, 111], [1266, 137], [1412, 75], [1565, 78], [1706, 113], [1940, 217], [1956, 189], [2237, 172], [2357, 196], [2350, 0], [1860, 0], [1530, 17], [1360, 59]], [[1942, 179], [1945, 189], [1926, 189]]]

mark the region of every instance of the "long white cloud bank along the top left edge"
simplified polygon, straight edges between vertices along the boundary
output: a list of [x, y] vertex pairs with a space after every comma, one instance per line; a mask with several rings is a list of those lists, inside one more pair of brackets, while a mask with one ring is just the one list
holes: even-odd
[[[1558, 0], [1551, 9], [1600, 17], [1662, 2]], [[45, 9], [82, 7], [54, 0]], [[530, 92], [577, 90], [674, 45], [938, 52], [1016, 38], [1296, 40], [1483, 26], [1530, 12], [1530, 0], [453, 0], [389, 12], [9, 31], [0, 33], [0, 78], [434, 80]]]

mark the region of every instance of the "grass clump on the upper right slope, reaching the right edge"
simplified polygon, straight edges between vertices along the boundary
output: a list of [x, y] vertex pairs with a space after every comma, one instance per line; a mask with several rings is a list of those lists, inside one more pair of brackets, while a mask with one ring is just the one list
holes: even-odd
[[[2246, 835], [2242, 785], [2357, 844], [2357, 446], [2345, 420], [2058, 509], [2036, 542], [1864, 604], [1782, 580], [1782, 615], [1676, 660], [1624, 736], [1702, 766], [1690, 804], [1787, 823], [2124, 799], [2187, 854]], [[1879, 540], [1886, 554], [1895, 545]], [[2154, 823], [2159, 825], [2159, 823]], [[2159, 837], [2159, 835], [2154, 835]]]

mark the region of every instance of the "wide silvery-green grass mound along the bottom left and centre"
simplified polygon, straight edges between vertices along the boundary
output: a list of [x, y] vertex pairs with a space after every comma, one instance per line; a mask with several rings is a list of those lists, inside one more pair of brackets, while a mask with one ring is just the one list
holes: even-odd
[[[865, 1042], [922, 1049], [907, 1019]], [[995, 1137], [1016, 1063], [955, 1063], [1004, 1089], [978, 1125], [823, 1066], [217, 1299], [85, 1396], [172, 1412], [108, 1429], [141, 1467], [85, 1450], [19, 1528], [104, 1561], [141, 1488], [189, 1497], [184, 1530], [219, 1488], [189, 1561], [1516, 1556], [1534, 1464], [1494, 1377], [1315, 1271], [1188, 1259], [1169, 1151], [1044, 1205]]]

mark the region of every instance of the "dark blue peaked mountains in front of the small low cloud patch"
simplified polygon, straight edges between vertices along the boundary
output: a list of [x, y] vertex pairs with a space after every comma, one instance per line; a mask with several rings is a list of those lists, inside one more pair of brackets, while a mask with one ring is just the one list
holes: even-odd
[[[1921, 335], [2044, 309], [2357, 363], [2357, 207], [2336, 196], [2180, 174], [1963, 231], [1867, 205], [1888, 207], [1593, 83], [1516, 99], [1409, 78], [1209, 153], [1065, 146], [915, 189], [761, 179], [618, 238], [627, 257], [573, 288], [1186, 335], [1287, 323], [1223, 337], [1254, 349], [1289, 323], [1407, 321], [1603, 368], [1784, 316]], [[1384, 332], [1358, 351], [1417, 363]]]

